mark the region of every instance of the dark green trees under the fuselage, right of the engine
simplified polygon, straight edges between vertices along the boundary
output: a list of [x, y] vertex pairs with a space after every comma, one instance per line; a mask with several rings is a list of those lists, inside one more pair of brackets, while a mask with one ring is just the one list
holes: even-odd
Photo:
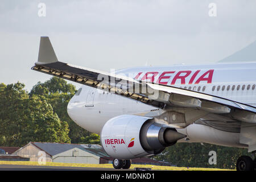
[[[217, 164], [209, 164], [209, 152], [215, 151]], [[154, 159], [170, 162], [178, 167], [207, 167], [207, 168], [236, 168], [239, 156], [247, 155], [247, 150], [242, 148], [216, 146], [204, 143], [176, 143], [167, 147]]]

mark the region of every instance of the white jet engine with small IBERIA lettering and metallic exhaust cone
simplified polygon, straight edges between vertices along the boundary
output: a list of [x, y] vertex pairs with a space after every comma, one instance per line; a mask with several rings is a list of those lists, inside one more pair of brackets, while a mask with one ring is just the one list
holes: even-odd
[[185, 135], [162, 127], [153, 118], [120, 115], [105, 123], [101, 145], [115, 159], [134, 159], [159, 154]]

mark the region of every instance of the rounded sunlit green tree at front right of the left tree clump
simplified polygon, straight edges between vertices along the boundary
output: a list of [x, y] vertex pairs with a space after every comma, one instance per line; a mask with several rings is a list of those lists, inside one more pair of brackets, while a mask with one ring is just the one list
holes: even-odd
[[45, 100], [40, 100], [38, 96], [30, 97], [26, 101], [26, 109], [24, 109], [24, 126], [23, 136], [21, 140], [24, 143], [34, 142], [64, 142], [70, 143], [68, 137], [68, 123], [61, 122], [56, 113], [53, 113], [50, 104]]

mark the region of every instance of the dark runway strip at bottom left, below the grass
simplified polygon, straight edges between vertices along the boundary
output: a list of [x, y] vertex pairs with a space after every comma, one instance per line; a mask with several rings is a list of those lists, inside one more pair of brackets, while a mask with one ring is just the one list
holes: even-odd
[[[114, 168], [63, 167], [63, 166], [28, 166], [0, 164], [0, 171], [116, 171]], [[118, 169], [118, 171], [132, 171], [132, 169]]]

